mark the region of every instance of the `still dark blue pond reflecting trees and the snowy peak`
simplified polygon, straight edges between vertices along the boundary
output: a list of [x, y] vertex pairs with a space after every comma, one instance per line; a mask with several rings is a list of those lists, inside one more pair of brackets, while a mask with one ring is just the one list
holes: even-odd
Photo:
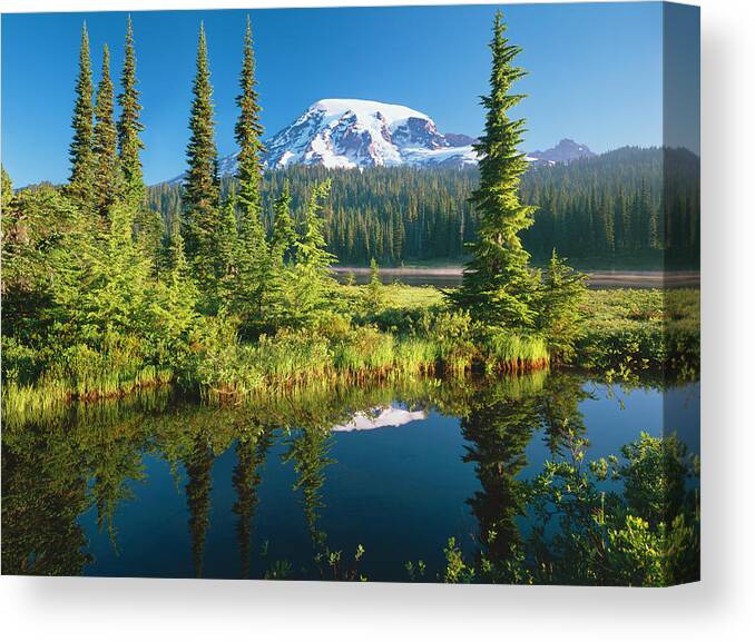
[[598, 458], [664, 424], [699, 452], [698, 384], [541, 373], [244, 407], [163, 391], [7, 421], [3, 572], [318, 579], [316, 552], [342, 551], [342, 574], [405, 581], [422, 560], [433, 581], [450, 536], [473, 554], [511, 508], [496, 480], [537, 475], [566, 426]]

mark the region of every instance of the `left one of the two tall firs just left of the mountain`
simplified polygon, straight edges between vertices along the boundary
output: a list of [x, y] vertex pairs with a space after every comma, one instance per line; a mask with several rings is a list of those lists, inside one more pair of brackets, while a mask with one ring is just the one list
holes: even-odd
[[194, 77], [189, 129], [186, 149], [188, 170], [184, 181], [184, 234], [186, 255], [195, 276], [203, 284], [214, 277], [214, 243], [219, 227], [220, 188], [217, 178], [215, 145], [215, 107], [209, 81], [207, 40], [199, 27], [197, 71]]

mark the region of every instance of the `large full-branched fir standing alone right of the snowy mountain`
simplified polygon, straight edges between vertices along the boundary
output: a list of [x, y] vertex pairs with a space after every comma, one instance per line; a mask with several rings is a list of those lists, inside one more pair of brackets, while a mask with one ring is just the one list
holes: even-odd
[[482, 98], [487, 110], [486, 132], [475, 145], [480, 156], [480, 186], [471, 200], [479, 215], [478, 239], [464, 269], [461, 288], [451, 299], [473, 318], [498, 327], [527, 328], [536, 320], [533, 307], [538, 275], [529, 268], [530, 255], [519, 234], [532, 224], [533, 208], [519, 201], [519, 181], [527, 170], [518, 151], [524, 121], [511, 120], [508, 110], [522, 98], [510, 93], [524, 71], [512, 65], [521, 51], [509, 45], [506, 24], [496, 14], [490, 95]]

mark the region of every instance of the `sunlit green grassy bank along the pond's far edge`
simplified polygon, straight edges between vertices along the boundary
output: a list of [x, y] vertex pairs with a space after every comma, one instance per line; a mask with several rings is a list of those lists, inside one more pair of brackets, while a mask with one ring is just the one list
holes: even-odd
[[[207, 322], [190, 348], [155, 358], [128, 342], [96, 352], [62, 352], [3, 339], [3, 413], [29, 413], [72, 399], [125, 395], [178, 383], [214, 399], [236, 401], [261, 391], [329, 386], [399, 376], [457, 376], [546, 367], [538, 336], [491, 333], [445, 307], [434, 287], [341, 286], [341, 307], [316, 328], [286, 329], [244, 342], [233, 318]], [[626, 378], [641, 371], [699, 369], [697, 290], [594, 290], [585, 303], [584, 333], [570, 365]]]

